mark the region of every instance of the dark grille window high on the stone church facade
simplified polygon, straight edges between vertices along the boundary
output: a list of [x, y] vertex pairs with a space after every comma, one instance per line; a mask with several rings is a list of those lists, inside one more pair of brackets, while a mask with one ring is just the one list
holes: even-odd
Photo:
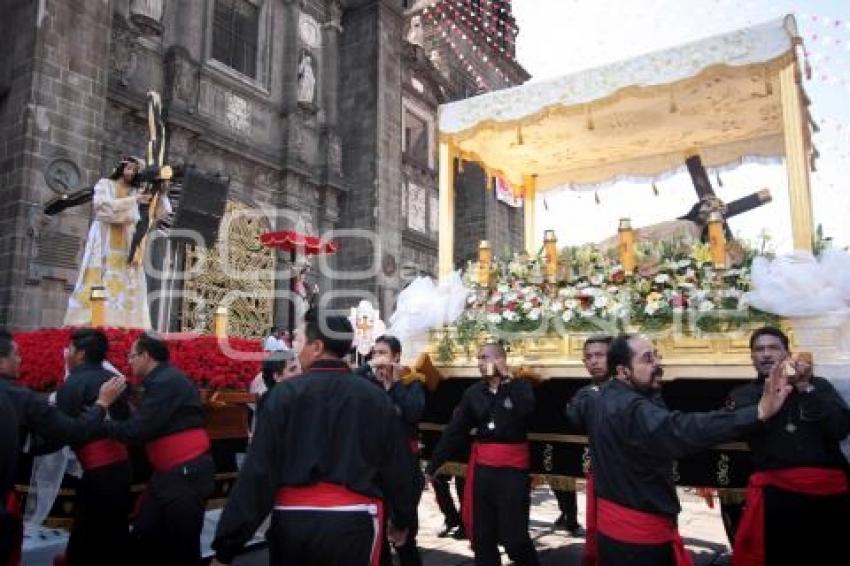
[[247, 0], [215, 0], [213, 58], [256, 78], [259, 21], [259, 8]]

